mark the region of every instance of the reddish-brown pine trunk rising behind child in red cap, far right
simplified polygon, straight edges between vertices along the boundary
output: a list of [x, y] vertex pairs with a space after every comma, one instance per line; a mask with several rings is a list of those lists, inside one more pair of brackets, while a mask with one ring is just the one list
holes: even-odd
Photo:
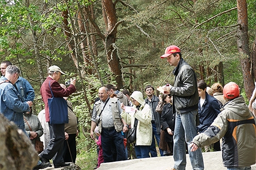
[[244, 89], [247, 98], [253, 94], [254, 80], [253, 75], [250, 73], [250, 50], [248, 38], [248, 15], [247, 15], [247, 2], [246, 0], [237, 0], [237, 13], [238, 13], [238, 27], [237, 46], [240, 55], [240, 63], [243, 71]]

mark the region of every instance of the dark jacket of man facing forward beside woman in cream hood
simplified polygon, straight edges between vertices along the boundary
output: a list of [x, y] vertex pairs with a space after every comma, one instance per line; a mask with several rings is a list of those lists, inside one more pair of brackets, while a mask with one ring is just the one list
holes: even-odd
[[[156, 112], [156, 106], [158, 105], [159, 98], [153, 95], [151, 102], [149, 99], [145, 99], [146, 104], [148, 104], [151, 107], [151, 114], [154, 114], [154, 122], [156, 124], [156, 133], [160, 134], [161, 132], [161, 115]], [[153, 123], [154, 123], [153, 122]]]

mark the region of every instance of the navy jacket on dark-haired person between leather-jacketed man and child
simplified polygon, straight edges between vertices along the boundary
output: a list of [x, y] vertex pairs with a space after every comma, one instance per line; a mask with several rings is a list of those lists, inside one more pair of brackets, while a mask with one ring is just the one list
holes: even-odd
[[197, 131], [203, 133], [213, 123], [219, 113], [220, 106], [217, 99], [205, 92], [203, 106], [200, 106], [200, 102], [198, 103], [199, 126], [196, 127]]

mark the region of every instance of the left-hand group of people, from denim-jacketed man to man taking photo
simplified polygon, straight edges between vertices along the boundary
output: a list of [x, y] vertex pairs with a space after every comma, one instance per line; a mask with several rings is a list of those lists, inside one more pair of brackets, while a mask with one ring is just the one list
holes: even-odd
[[[53, 160], [55, 168], [69, 166], [76, 159], [77, 119], [72, 110], [72, 103], [67, 100], [67, 96], [76, 91], [76, 80], [71, 79], [71, 85], [66, 88], [59, 84], [61, 74], [65, 74], [56, 66], [50, 66], [47, 70], [48, 77], [41, 86], [41, 95], [45, 102], [45, 109], [40, 112], [38, 117], [32, 114], [33, 100], [35, 91], [28, 81], [21, 76], [21, 71], [10, 61], [1, 63], [0, 78], [0, 110], [1, 114], [8, 120], [14, 122], [18, 128], [24, 131], [29, 137], [38, 152], [40, 160], [33, 169], [43, 169], [52, 166], [50, 159]], [[56, 98], [52, 104], [59, 110], [66, 111], [66, 122], [52, 123], [53, 116], [58, 112], [51, 112], [49, 99]], [[51, 113], [50, 113], [51, 112]], [[60, 117], [57, 117], [60, 119]], [[42, 126], [43, 125], [43, 126]], [[40, 138], [44, 136], [43, 143]], [[65, 142], [66, 141], [66, 142]]]

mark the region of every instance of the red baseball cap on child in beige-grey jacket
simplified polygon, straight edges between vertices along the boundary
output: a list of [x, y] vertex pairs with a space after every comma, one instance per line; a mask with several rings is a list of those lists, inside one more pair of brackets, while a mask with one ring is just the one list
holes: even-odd
[[[235, 97], [238, 97], [240, 95], [239, 90], [239, 86], [236, 83], [230, 82], [223, 87], [223, 95], [227, 99], [234, 99]], [[230, 97], [229, 95], [234, 96]]]

